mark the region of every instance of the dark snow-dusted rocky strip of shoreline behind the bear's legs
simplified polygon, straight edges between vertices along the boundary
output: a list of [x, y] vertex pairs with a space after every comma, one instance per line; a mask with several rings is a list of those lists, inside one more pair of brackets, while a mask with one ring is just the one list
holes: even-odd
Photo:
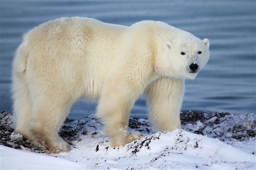
[[[231, 113], [180, 113], [183, 130], [191, 133], [216, 138], [227, 144], [234, 142], [246, 142], [255, 140], [256, 114], [241, 114], [236, 116]], [[35, 153], [44, 153], [40, 148], [20, 134], [15, 134], [13, 125], [13, 113], [0, 113], [0, 144], [20, 150], [29, 150]], [[66, 119], [60, 130], [60, 136], [71, 146], [79, 141], [81, 136], [98, 136], [99, 127], [103, 127], [95, 115], [90, 115], [81, 120]], [[154, 134], [148, 119], [130, 118], [129, 129], [140, 131], [145, 135]], [[250, 153], [255, 154], [256, 150]]]

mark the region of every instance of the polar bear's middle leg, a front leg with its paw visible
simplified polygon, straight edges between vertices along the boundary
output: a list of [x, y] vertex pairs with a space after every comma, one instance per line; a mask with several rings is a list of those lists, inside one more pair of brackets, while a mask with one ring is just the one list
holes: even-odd
[[103, 87], [97, 116], [102, 119], [106, 136], [110, 136], [112, 147], [128, 144], [143, 137], [141, 133], [129, 133], [129, 115], [135, 100], [134, 89], [122, 83], [106, 83]]

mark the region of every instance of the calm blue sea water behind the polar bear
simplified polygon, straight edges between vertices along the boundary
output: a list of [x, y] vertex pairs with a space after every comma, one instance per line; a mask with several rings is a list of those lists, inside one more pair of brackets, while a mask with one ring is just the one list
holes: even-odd
[[[256, 113], [256, 2], [252, 1], [0, 1], [0, 111], [12, 111], [11, 65], [22, 35], [58, 17], [92, 17], [130, 26], [160, 20], [208, 38], [210, 60], [186, 81], [182, 111]], [[79, 100], [69, 118], [95, 112], [96, 102]], [[47, 108], [46, 108], [47, 109]], [[131, 116], [146, 117], [145, 98]]]

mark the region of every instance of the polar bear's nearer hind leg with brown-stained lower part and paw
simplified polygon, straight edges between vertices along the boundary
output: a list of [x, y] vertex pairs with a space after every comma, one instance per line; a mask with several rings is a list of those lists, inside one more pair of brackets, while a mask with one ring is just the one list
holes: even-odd
[[33, 118], [30, 127], [35, 144], [41, 146], [47, 153], [70, 151], [69, 144], [58, 135], [58, 132], [73, 102], [68, 99], [67, 94], [52, 95], [44, 91], [39, 96], [33, 101]]

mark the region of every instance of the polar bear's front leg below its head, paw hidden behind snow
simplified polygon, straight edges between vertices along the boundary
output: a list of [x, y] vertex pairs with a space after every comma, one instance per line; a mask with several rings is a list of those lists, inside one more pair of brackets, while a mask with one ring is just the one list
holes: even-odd
[[184, 80], [162, 77], [146, 90], [151, 124], [160, 131], [180, 126], [180, 108], [184, 94]]

